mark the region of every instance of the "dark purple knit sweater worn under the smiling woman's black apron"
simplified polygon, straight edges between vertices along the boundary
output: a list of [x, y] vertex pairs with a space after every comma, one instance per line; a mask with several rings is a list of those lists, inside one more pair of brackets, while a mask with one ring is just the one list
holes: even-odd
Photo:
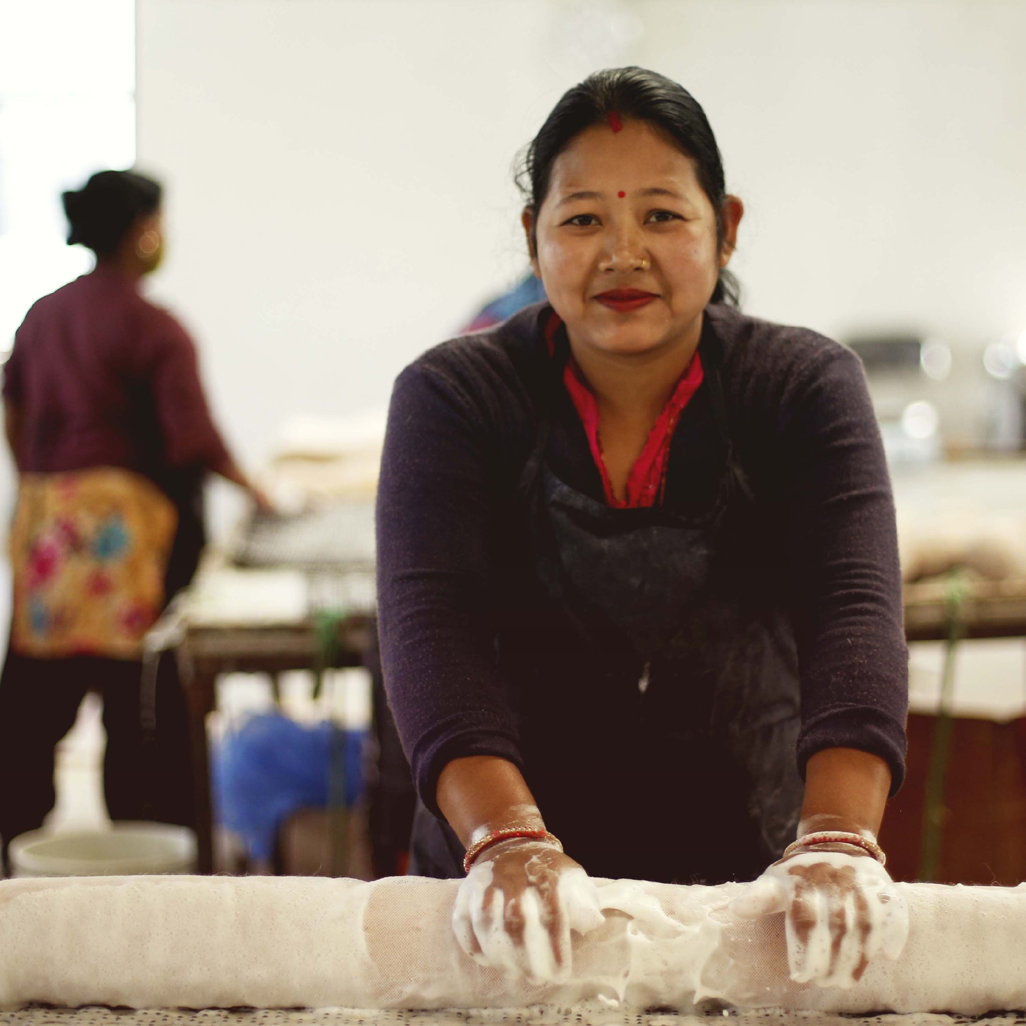
[[[421, 798], [452, 758], [523, 765], [517, 712], [496, 667], [504, 560], [524, 526], [515, 488], [551, 376], [534, 306], [424, 354], [392, 396], [378, 499], [379, 607], [389, 701]], [[800, 773], [825, 748], [871, 752], [904, 777], [907, 649], [894, 503], [858, 358], [813, 331], [710, 306], [731, 435], [756, 498], [754, 559], [791, 609], [801, 677]], [[708, 388], [671, 444], [665, 504], [708, 504], [722, 466]], [[550, 452], [603, 501], [568, 398]], [[601, 695], [594, 696], [601, 701]], [[544, 810], [543, 810], [544, 812]]]

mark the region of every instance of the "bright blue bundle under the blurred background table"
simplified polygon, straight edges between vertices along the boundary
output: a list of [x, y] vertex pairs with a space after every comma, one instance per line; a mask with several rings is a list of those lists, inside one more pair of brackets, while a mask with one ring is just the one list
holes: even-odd
[[242, 837], [250, 858], [272, 858], [278, 831], [292, 813], [326, 808], [336, 793], [347, 808], [356, 803], [366, 738], [366, 731], [304, 726], [277, 712], [253, 716], [213, 753], [216, 821]]

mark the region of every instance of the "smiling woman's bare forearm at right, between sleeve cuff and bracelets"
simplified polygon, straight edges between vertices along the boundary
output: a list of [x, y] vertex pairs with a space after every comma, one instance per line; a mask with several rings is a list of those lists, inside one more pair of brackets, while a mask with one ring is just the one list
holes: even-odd
[[876, 836], [891, 791], [883, 759], [855, 748], [825, 748], [805, 766], [805, 796], [798, 835], [817, 830]]

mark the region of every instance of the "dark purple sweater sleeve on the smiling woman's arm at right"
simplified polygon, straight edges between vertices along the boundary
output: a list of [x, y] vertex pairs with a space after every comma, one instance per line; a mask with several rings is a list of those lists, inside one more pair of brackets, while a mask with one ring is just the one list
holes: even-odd
[[858, 358], [821, 349], [782, 408], [798, 765], [804, 775], [818, 751], [860, 749], [887, 762], [894, 793], [905, 775], [908, 649], [891, 481]]

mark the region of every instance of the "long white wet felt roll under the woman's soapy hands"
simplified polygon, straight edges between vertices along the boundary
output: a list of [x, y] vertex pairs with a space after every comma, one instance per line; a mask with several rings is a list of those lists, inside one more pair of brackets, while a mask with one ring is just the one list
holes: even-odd
[[602, 881], [605, 921], [575, 938], [568, 982], [537, 986], [463, 954], [450, 925], [456, 881], [8, 880], [0, 1008], [1026, 1008], [1026, 886], [898, 884], [905, 950], [847, 990], [790, 981], [783, 915], [752, 921], [725, 909], [745, 886]]

